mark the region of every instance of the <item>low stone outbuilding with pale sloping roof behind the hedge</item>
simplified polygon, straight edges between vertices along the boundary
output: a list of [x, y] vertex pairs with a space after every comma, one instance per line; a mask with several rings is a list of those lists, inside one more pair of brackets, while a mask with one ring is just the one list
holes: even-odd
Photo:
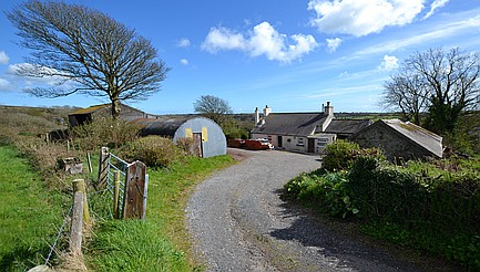
[[442, 138], [412, 123], [380, 119], [356, 133], [350, 140], [360, 147], [378, 147], [388, 159], [441, 158]]

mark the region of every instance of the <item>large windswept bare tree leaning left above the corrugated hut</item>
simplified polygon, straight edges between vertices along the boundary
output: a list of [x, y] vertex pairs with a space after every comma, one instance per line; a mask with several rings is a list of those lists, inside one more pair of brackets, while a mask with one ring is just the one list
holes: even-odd
[[20, 45], [31, 51], [18, 73], [58, 80], [53, 87], [25, 90], [32, 95], [106, 96], [116, 118], [120, 101], [160, 91], [170, 70], [149, 40], [96, 10], [32, 0], [7, 15], [19, 30]]

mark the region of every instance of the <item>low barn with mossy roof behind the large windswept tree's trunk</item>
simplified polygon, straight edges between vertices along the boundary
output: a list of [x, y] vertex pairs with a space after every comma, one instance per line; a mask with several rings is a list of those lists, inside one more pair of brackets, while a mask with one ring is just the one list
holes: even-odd
[[[121, 109], [120, 118], [125, 121], [155, 117], [155, 115], [144, 113], [140, 109], [136, 109], [134, 107], [124, 104], [120, 104], [120, 109]], [[111, 112], [112, 112], [111, 104], [102, 104], [102, 105], [95, 105], [86, 108], [81, 108], [69, 114], [69, 124], [70, 126], [83, 125], [84, 123], [91, 122], [99, 117], [109, 117], [111, 116]]]

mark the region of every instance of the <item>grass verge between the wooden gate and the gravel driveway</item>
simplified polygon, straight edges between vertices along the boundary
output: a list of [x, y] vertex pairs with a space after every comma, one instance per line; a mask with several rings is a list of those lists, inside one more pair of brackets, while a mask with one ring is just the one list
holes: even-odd
[[195, 271], [184, 208], [191, 190], [213, 171], [233, 164], [229, 156], [190, 157], [170, 169], [149, 169], [145, 221], [100, 222], [88, 245], [96, 271]]

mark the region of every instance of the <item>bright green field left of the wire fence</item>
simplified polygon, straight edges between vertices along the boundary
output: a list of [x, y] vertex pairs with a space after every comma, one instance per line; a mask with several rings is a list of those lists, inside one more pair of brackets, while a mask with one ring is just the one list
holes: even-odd
[[9, 146], [0, 146], [0, 270], [43, 264], [63, 220], [61, 195]]

